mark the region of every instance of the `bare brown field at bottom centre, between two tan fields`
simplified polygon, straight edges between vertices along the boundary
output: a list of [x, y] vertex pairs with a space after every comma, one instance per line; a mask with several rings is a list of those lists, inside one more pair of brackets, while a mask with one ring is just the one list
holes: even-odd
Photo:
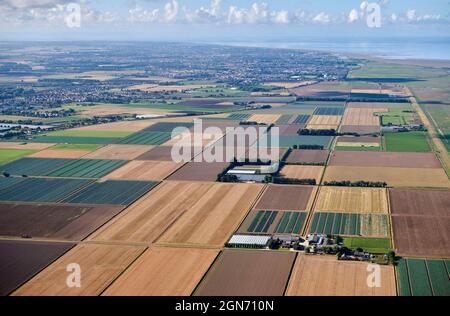
[[281, 296], [294, 253], [224, 250], [198, 286], [196, 296]]

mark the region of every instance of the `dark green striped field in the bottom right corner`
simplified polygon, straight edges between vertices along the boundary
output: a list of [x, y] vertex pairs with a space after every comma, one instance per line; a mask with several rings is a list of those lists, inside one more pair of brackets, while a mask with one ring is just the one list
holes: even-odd
[[402, 258], [397, 265], [399, 295], [449, 296], [448, 260]]

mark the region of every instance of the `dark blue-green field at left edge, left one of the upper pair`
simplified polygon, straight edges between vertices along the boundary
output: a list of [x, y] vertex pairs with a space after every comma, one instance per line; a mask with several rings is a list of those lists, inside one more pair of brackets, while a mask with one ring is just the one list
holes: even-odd
[[0, 169], [11, 175], [45, 176], [53, 170], [61, 168], [73, 161], [75, 160], [60, 158], [22, 158], [4, 165]]

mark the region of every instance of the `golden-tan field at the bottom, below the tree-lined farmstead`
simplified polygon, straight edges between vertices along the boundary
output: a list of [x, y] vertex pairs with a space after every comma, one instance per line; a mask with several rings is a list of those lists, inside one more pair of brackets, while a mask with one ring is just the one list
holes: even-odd
[[289, 296], [395, 296], [393, 266], [379, 266], [381, 287], [367, 286], [367, 263], [335, 256], [298, 255], [289, 280]]

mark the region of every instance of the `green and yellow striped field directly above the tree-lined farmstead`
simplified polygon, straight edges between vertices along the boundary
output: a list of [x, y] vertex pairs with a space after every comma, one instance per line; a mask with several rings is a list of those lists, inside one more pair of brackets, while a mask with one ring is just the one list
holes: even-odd
[[310, 233], [389, 237], [389, 219], [380, 214], [314, 213]]

